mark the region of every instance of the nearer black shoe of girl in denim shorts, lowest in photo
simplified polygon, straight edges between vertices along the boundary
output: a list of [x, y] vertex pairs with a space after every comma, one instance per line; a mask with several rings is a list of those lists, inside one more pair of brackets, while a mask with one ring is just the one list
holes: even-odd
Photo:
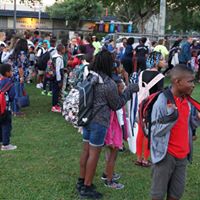
[[95, 191], [91, 186], [83, 186], [80, 191], [81, 199], [101, 199], [103, 195]]

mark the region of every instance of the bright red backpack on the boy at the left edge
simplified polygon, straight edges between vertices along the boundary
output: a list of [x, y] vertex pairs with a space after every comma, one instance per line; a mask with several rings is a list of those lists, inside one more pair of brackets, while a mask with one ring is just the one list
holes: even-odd
[[13, 83], [7, 82], [1, 89], [0, 89], [0, 121], [5, 119], [7, 114], [7, 102], [8, 99], [8, 90], [13, 86]]

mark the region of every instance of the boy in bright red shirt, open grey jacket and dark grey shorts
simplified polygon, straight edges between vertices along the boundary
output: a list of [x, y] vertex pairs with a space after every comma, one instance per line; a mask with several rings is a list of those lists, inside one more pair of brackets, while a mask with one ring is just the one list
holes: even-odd
[[[170, 72], [171, 92], [175, 104], [161, 93], [153, 105], [151, 120], [151, 158], [153, 200], [181, 199], [186, 179], [187, 160], [192, 159], [193, 129], [200, 124], [200, 115], [192, 116], [188, 98], [194, 89], [194, 73], [184, 64], [176, 65]], [[162, 124], [160, 117], [178, 111], [177, 120]]]

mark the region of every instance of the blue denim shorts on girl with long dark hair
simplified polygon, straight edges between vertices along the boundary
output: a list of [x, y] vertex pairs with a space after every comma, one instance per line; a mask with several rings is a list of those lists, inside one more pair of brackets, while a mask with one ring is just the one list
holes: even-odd
[[91, 146], [101, 147], [104, 145], [107, 128], [96, 122], [91, 122], [83, 128], [83, 141]]

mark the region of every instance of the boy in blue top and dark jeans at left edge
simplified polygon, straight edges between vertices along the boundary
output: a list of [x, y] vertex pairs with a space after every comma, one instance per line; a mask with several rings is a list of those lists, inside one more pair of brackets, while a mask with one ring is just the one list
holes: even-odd
[[17, 146], [10, 144], [12, 129], [11, 102], [15, 97], [14, 85], [10, 79], [12, 76], [11, 65], [1, 64], [0, 73], [0, 89], [5, 92], [6, 98], [6, 115], [0, 120], [0, 142], [2, 142], [1, 150], [14, 150]]

